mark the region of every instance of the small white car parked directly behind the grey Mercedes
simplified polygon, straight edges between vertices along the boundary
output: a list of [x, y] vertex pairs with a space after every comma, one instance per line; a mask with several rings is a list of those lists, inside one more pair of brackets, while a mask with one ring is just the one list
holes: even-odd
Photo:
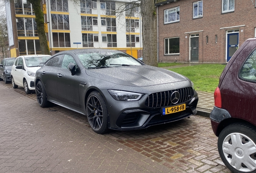
[[35, 90], [35, 72], [50, 57], [50, 55], [36, 54], [17, 57], [11, 70], [12, 87], [14, 89], [18, 86], [24, 87], [25, 93], [30, 94], [32, 90]]

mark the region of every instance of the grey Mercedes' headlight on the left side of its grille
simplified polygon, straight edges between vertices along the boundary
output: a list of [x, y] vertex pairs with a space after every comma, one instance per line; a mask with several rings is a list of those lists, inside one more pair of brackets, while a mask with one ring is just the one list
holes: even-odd
[[107, 90], [109, 94], [117, 101], [138, 101], [143, 94], [132, 93], [128, 91], [118, 91], [118, 90]]

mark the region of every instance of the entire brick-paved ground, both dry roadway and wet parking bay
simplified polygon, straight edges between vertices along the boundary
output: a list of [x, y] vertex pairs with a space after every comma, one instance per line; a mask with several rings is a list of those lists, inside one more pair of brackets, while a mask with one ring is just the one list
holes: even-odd
[[1, 81], [0, 98], [0, 172], [230, 173], [208, 117], [97, 135], [84, 115], [42, 109], [22, 88]]

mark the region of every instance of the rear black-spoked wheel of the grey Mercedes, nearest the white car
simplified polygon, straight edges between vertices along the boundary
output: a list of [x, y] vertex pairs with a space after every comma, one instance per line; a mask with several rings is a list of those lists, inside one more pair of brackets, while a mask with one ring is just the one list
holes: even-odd
[[35, 94], [37, 95], [37, 103], [40, 107], [44, 108], [49, 106], [49, 101], [47, 101], [47, 95], [41, 81], [37, 82]]

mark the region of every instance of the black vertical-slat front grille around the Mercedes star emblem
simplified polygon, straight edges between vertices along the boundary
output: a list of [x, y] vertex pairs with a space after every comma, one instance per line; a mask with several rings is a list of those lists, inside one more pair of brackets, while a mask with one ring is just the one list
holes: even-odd
[[180, 99], [178, 103], [175, 103], [175, 105], [184, 103], [190, 100], [194, 95], [194, 91], [192, 87], [175, 89], [171, 91], [163, 91], [160, 93], [153, 93], [149, 95], [149, 97], [145, 101], [145, 105], [151, 108], [166, 107], [166, 106], [174, 105], [173, 103], [171, 103], [171, 94], [175, 91], [178, 91], [180, 93]]

